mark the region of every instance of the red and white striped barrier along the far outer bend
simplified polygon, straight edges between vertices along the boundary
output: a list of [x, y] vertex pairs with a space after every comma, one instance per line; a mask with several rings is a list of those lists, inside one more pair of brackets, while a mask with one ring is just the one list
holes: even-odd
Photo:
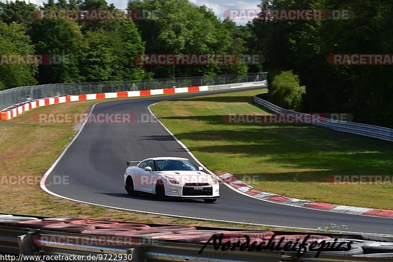
[[96, 100], [96, 99], [107, 99], [107, 98], [140, 97], [140, 96], [150, 96], [150, 95], [201, 92], [201, 91], [208, 91], [208, 89], [209, 89], [208, 86], [205, 85], [205, 86], [190, 86], [190, 87], [177, 87], [177, 88], [151, 89], [151, 90], [141, 90], [141, 91], [126, 91], [126, 92], [43, 98], [39, 100], [27, 101], [18, 105], [10, 106], [0, 111], [0, 120], [9, 120], [28, 110], [45, 105], [55, 105], [60, 103], [73, 102], [73, 101]]

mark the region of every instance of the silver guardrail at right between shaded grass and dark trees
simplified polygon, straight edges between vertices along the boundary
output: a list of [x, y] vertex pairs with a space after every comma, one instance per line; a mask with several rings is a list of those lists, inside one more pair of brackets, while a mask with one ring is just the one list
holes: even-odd
[[264, 97], [264, 94], [255, 96], [254, 103], [262, 105], [274, 113], [293, 115], [294, 119], [310, 119], [309, 124], [314, 126], [330, 128], [336, 131], [358, 134], [393, 142], [393, 129], [341, 120], [333, 120], [329, 118], [313, 116], [310, 114], [290, 111], [281, 108], [280, 106], [274, 105], [262, 99], [261, 97]]

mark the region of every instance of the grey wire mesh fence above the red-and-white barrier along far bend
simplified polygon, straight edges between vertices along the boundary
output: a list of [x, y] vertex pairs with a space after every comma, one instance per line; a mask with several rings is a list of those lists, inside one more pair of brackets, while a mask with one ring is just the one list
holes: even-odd
[[138, 81], [107, 81], [89, 83], [57, 83], [21, 86], [0, 91], [0, 110], [26, 101], [61, 96], [75, 96], [97, 93], [114, 93], [164, 89], [173, 87], [225, 85], [253, 82], [266, 79], [267, 73], [246, 75], [217, 75], [173, 79], [147, 79]]

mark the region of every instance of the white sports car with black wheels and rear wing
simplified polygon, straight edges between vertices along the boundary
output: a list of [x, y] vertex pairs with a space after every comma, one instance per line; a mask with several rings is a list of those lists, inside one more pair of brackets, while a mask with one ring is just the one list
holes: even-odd
[[203, 199], [213, 203], [220, 198], [216, 176], [202, 172], [187, 158], [153, 157], [142, 161], [127, 161], [130, 166], [124, 174], [124, 186], [129, 195], [138, 192], [155, 194], [157, 199], [166, 197]]

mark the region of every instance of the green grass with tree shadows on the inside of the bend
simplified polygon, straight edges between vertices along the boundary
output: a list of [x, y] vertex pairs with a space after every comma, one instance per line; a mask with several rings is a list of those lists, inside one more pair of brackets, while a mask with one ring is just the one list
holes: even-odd
[[224, 123], [227, 113], [266, 113], [253, 103], [262, 92], [166, 101], [152, 110], [216, 173], [285, 196], [393, 210], [393, 185], [327, 183], [330, 175], [392, 175], [392, 143], [311, 125]]

